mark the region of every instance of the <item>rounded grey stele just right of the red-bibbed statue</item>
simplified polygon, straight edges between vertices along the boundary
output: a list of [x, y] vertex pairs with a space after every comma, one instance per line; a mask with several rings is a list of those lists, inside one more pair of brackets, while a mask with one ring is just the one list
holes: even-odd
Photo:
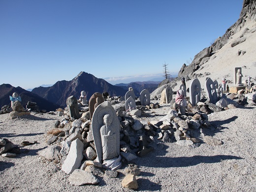
[[190, 102], [192, 106], [195, 106], [201, 100], [201, 84], [200, 81], [195, 78], [190, 84]]

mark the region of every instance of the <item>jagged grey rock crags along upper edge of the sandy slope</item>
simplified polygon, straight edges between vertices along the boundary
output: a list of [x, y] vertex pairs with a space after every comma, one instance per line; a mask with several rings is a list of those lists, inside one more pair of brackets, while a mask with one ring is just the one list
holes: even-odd
[[[234, 41], [233, 44], [231, 44], [231, 47], [234, 47], [246, 40], [246, 38], [243, 36], [244, 33], [246, 33], [248, 30], [251, 30], [250, 32], [255, 32], [255, 28], [253, 29], [246, 29], [245, 26], [248, 23], [255, 23], [256, 22], [256, 0], [244, 0], [242, 11], [240, 13], [239, 19], [235, 24], [233, 24], [231, 27], [229, 27], [225, 34], [222, 37], [219, 37], [215, 40], [215, 42], [205, 49], [203, 49], [201, 52], [199, 52], [197, 55], [194, 56], [194, 59], [190, 65], [183, 64], [178, 77], [181, 79], [182, 77], [186, 77], [187, 79], [191, 79], [194, 76], [195, 71], [197, 71], [199, 68], [202, 68], [201, 66], [207, 63], [210, 59], [216, 57], [216, 53], [224, 47], [225, 44], [227, 44], [230, 41]], [[254, 26], [255, 27], [255, 26]], [[245, 30], [245, 32], [242, 32], [240, 39], [234, 39], [232, 38], [233, 35], [237, 34], [241, 30]]]

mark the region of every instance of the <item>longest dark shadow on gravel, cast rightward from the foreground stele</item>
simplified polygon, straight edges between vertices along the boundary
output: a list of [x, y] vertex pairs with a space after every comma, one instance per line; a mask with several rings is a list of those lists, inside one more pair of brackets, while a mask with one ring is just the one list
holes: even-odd
[[137, 162], [139, 166], [147, 167], [188, 167], [197, 165], [200, 163], [216, 163], [223, 160], [242, 160], [243, 158], [236, 156], [192, 156], [192, 157], [178, 157], [178, 158], [169, 158], [169, 157], [155, 157], [151, 161], [140, 160]]

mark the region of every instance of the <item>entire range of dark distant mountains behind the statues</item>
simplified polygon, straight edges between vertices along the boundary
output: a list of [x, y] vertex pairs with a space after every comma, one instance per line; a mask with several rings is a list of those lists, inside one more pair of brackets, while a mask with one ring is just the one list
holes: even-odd
[[1, 106], [10, 104], [9, 96], [16, 92], [21, 96], [23, 105], [26, 105], [28, 101], [32, 101], [36, 102], [40, 109], [50, 111], [56, 110], [60, 106], [65, 107], [66, 99], [69, 96], [75, 96], [79, 99], [81, 91], [86, 92], [88, 100], [96, 92], [108, 92], [110, 96], [125, 96], [129, 87], [133, 88], [136, 96], [139, 96], [144, 89], [147, 89], [150, 93], [153, 92], [159, 83], [146, 81], [111, 85], [103, 79], [82, 71], [71, 81], [58, 81], [50, 87], [40, 86], [34, 88], [31, 92], [21, 87], [15, 88], [9, 84], [2, 84], [0, 86], [0, 104]]

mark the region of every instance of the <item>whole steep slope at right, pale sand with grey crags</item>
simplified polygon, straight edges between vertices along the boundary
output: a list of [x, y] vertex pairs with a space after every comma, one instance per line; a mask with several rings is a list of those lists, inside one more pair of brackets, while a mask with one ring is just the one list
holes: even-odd
[[[190, 65], [183, 64], [178, 78], [171, 84], [175, 90], [185, 77], [187, 88], [193, 78], [198, 78], [204, 88], [205, 78], [211, 77], [221, 82], [226, 78], [230, 83], [234, 78], [234, 67], [242, 67], [242, 80], [253, 77], [256, 81], [256, 0], [244, 0], [240, 17], [229, 27], [222, 37], [197, 55]], [[230, 84], [229, 86], [232, 86]]]

